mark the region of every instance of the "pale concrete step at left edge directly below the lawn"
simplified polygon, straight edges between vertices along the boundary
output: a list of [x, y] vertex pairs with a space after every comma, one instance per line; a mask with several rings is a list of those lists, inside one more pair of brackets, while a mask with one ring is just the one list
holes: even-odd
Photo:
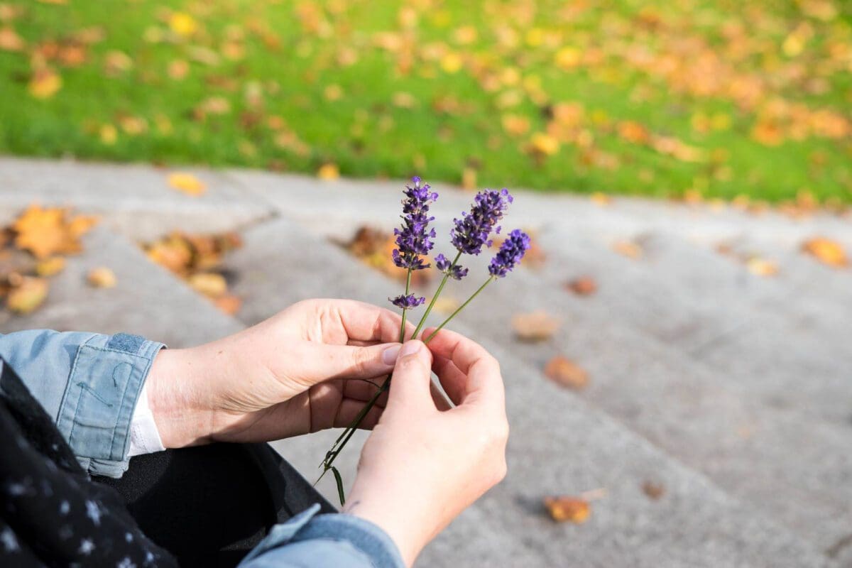
[[193, 197], [169, 186], [170, 171], [174, 170], [0, 157], [0, 223], [5, 225], [33, 203], [73, 206], [102, 215], [104, 227], [137, 240], [156, 238], [176, 228], [231, 231], [271, 214], [268, 204], [222, 173], [179, 169], [204, 182], [204, 194]]

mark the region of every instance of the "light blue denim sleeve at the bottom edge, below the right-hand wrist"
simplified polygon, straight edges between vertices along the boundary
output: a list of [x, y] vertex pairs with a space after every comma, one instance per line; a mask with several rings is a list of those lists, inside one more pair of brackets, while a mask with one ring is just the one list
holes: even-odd
[[405, 568], [387, 533], [352, 515], [317, 515], [320, 505], [275, 525], [239, 568]]

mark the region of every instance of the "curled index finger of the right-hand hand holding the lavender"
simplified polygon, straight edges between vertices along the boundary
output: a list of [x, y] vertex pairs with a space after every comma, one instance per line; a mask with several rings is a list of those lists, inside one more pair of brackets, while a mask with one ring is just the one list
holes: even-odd
[[435, 357], [452, 361], [465, 377], [463, 386], [450, 386], [460, 395], [460, 405], [487, 404], [495, 409], [504, 408], [500, 365], [485, 347], [454, 331], [440, 330], [429, 341], [429, 350], [435, 353]]

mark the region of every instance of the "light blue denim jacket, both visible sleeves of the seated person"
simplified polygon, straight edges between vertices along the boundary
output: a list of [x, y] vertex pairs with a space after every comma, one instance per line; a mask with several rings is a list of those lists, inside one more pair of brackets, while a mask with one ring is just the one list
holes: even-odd
[[[121, 477], [130, 458], [130, 421], [136, 399], [164, 347], [119, 333], [50, 330], [0, 335], [0, 357], [55, 418], [90, 474]], [[399, 568], [405, 564], [390, 537], [347, 514], [318, 515], [314, 505], [281, 525], [240, 566]]]

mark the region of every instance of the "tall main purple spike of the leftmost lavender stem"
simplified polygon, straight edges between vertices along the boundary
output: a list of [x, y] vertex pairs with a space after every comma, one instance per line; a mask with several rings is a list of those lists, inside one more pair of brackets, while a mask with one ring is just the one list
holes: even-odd
[[429, 231], [429, 204], [438, 198], [438, 194], [429, 191], [429, 184], [420, 184], [420, 178], [412, 177], [414, 186], [406, 186], [406, 198], [402, 200], [402, 228], [394, 229], [396, 246], [393, 253], [394, 264], [400, 268], [421, 270], [429, 268], [423, 263], [421, 255], [428, 255], [435, 244], [429, 240], [435, 238], [435, 229]]

